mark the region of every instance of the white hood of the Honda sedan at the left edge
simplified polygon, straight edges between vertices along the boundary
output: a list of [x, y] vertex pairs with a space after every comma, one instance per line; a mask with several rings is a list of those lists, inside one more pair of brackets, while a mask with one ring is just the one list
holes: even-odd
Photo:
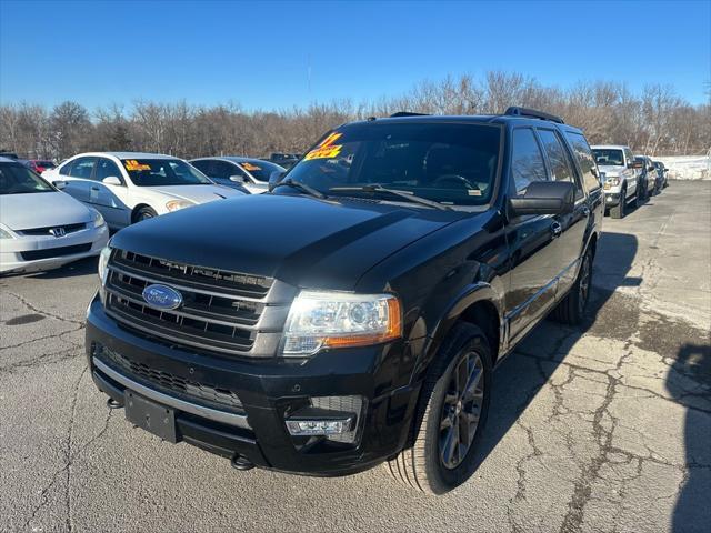
[[92, 213], [63, 192], [0, 195], [0, 222], [11, 230], [29, 230], [90, 222]]

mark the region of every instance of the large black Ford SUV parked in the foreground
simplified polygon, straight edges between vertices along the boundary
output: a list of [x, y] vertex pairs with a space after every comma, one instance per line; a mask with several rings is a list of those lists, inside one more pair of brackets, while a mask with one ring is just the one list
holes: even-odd
[[109, 405], [237, 469], [465, 481], [494, 365], [584, 312], [603, 197], [555, 117], [408, 114], [337, 128], [271, 193], [117, 233], [87, 320]]

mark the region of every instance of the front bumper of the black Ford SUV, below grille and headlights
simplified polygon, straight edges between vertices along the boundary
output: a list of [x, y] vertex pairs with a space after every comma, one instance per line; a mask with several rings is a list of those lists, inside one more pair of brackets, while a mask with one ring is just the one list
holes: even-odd
[[[414, 359], [404, 341], [323, 352], [307, 360], [198, 355], [119, 326], [104, 314], [98, 298], [89, 306], [86, 335], [91, 374], [104, 393], [123, 403], [124, 391], [131, 390], [169, 405], [176, 410], [178, 441], [224, 457], [246, 457], [270, 470], [309, 475], [367, 470], [403, 447], [419, 396], [419, 384], [409, 384], [410, 374], [403, 372]], [[162, 375], [233, 391], [241, 409], [216, 408], [129, 375], [103, 359], [98, 346]], [[321, 396], [362, 398], [353, 443], [307, 442], [290, 435], [286, 419], [309, 399]]]

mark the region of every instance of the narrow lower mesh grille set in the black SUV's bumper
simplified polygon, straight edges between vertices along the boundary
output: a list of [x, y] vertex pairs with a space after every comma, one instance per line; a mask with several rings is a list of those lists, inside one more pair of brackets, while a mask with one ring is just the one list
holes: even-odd
[[109, 363], [127, 378], [142, 382], [162, 392], [177, 393], [190, 400], [198, 400], [221, 408], [230, 408], [233, 411], [243, 413], [242, 402], [234, 391], [220, 389], [197, 381], [186, 380], [162, 370], [156, 370], [146, 363], [130, 360], [126, 355], [109, 350], [104, 346], [97, 346], [94, 355]]

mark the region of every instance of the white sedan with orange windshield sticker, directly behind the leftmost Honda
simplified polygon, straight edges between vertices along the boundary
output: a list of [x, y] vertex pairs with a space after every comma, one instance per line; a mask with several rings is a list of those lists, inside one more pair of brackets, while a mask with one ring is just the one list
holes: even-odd
[[97, 209], [112, 229], [199, 203], [242, 195], [212, 182], [186, 161], [138, 152], [81, 153], [42, 172]]

